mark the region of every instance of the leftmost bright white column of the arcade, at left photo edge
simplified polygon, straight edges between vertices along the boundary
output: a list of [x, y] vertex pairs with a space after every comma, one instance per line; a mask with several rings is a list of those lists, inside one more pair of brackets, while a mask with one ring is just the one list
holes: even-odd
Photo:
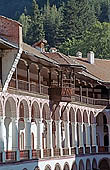
[[5, 125], [4, 125], [4, 117], [0, 117], [0, 152], [2, 152], [2, 162], [5, 162], [6, 160], [6, 154], [5, 154], [5, 142], [6, 142], [6, 133]]

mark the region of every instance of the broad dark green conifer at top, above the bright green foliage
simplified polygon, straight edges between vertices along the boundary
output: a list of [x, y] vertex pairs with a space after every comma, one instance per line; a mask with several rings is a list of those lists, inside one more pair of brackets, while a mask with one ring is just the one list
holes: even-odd
[[95, 13], [88, 0], [68, 0], [63, 10], [61, 26], [64, 40], [72, 39], [72, 37], [81, 38], [85, 30], [90, 29], [95, 21]]

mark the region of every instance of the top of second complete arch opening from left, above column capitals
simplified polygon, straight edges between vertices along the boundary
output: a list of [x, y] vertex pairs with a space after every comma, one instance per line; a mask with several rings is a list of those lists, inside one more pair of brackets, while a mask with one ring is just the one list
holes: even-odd
[[19, 117], [20, 118], [29, 118], [29, 107], [28, 107], [28, 103], [25, 99], [20, 101]]

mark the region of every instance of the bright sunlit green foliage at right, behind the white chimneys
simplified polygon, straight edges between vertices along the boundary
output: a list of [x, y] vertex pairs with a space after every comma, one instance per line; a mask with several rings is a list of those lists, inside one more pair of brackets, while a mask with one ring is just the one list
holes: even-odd
[[109, 58], [110, 23], [97, 22], [91, 30], [85, 32], [82, 39], [68, 39], [59, 49], [69, 55], [75, 55], [77, 51], [81, 51], [83, 57], [86, 57], [89, 51], [94, 51], [97, 58]]

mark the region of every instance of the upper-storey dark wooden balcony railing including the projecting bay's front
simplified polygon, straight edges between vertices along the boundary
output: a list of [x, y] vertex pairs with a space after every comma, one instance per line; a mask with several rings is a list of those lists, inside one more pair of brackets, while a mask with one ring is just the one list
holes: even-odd
[[39, 93], [44, 95], [49, 95], [50, 100], [54, 101], [67, 101], [71, 102], [72, 97], [74, 97], [75, 102], [81, 102], [84, 104], [90, 104], [90, 105], [100, 105], [100, 106], [107, 106], [109, 104], [108, 99], [94, 99], [86, 96], [81, 96], [75, 94], [75, 88], [73, 87], [73, 84], [65, 83], [62, 87], [58, 87], [58, 84], [54, 83], [51, 84], [51, 87], [45, 86], [43, 84], [37, 84], [36, 82], [27, 82], [24, 80], [15, 80], [12, 78], [9, 84], [10, 87], [20, 89], [23, 91], [28, 91], [32, 93]]

